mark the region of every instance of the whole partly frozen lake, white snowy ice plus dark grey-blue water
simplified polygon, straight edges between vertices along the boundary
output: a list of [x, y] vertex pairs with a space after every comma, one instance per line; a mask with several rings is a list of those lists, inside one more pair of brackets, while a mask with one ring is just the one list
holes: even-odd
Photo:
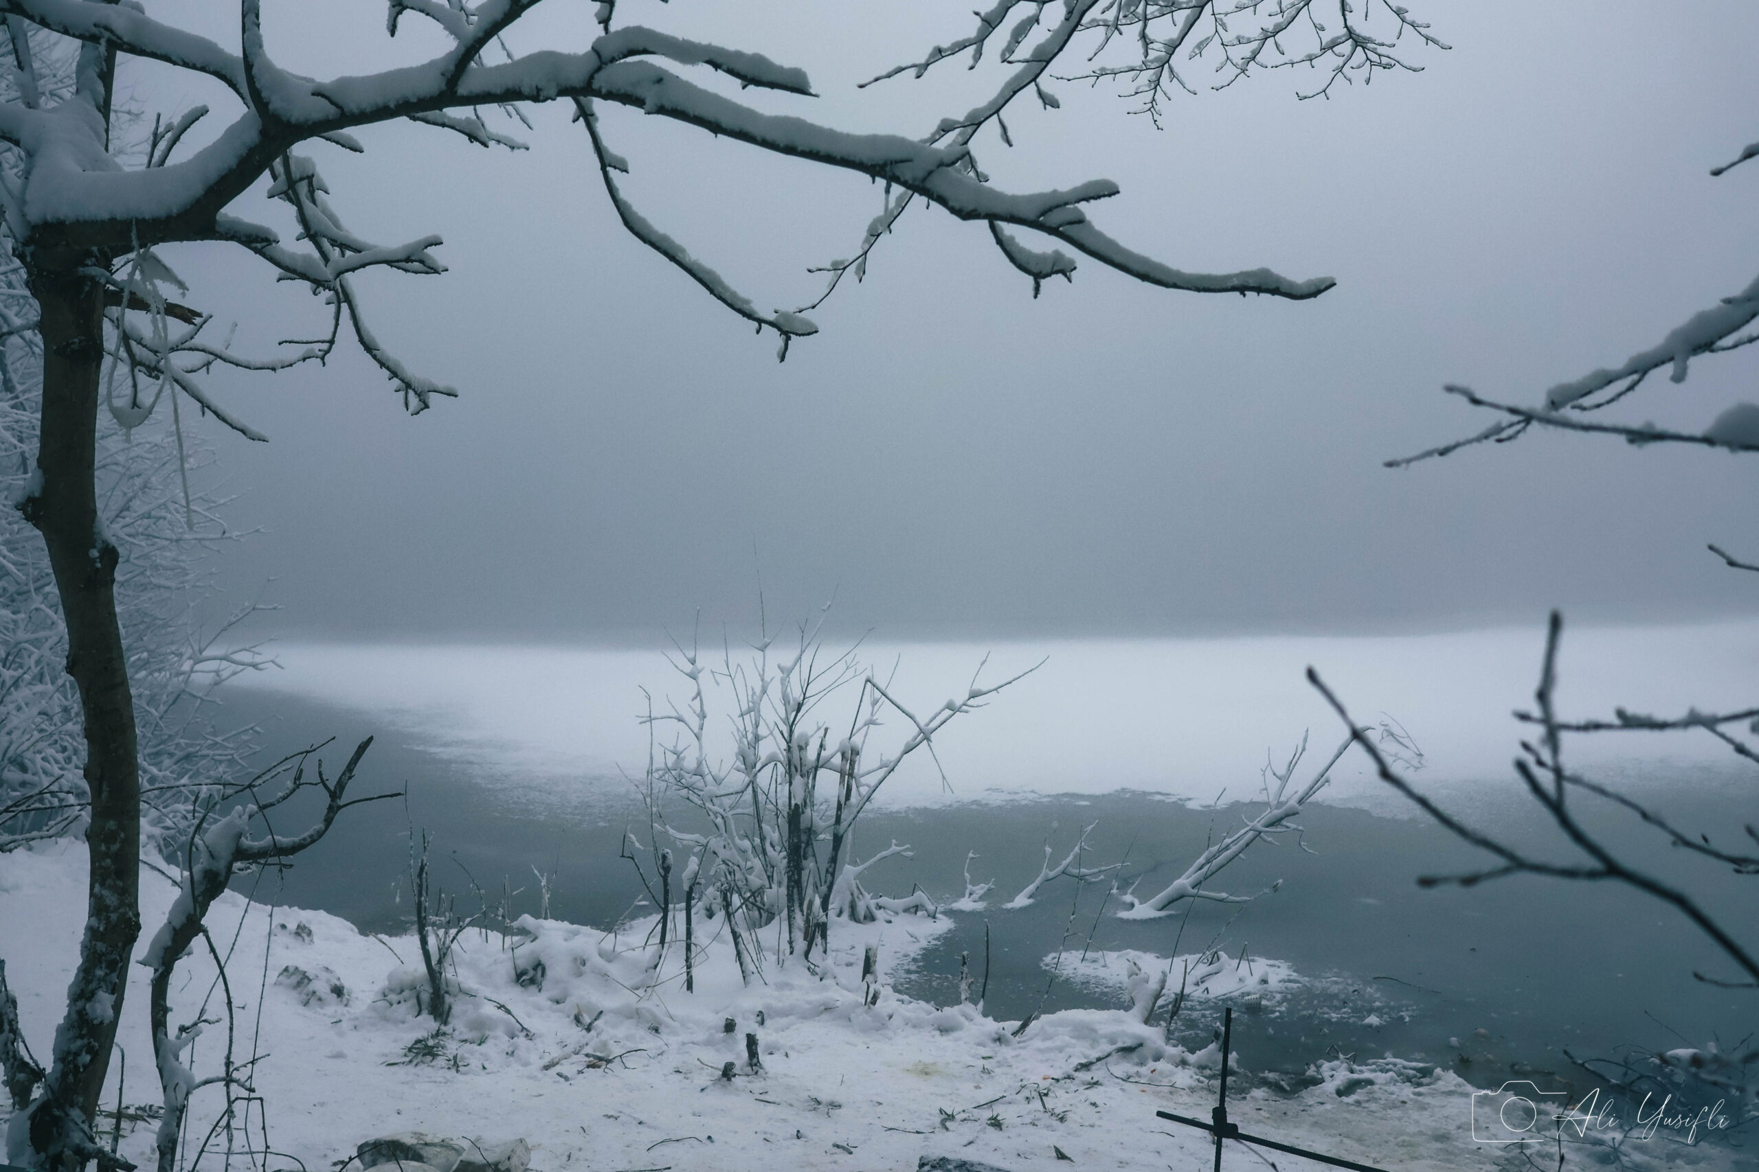
[[[1266, 750], [1286, 754], [1310, 727], [1310, 757], [1328, 756], [1339, 729], [1302, 680], [1309, 662], [1358, 719], [1397, 717], [1427, 754], [1420, 777], [1456, 810], [1532, 838], [1507, 766], [1518, 736], [1507, 712], [1530, 701], [1541, 638], [1499, 629], [865, 648], [871, 662], [897, 657], [901, 698], [927, 710], [964, 694], [985, 650], [985, 678], [1045, 661], [938, 740], [952, 792], [932, 768], [916, 770], [862, 822], [858, 850], [894, 838], [915, 849], [876, 868], [880, 891], [920, 884], [957, 898], [967, 850], [980, 856], [973, 877], [997, 880], [987, 910], [955, 914], [957, 930], [929, 949], [906, 991], [957, 1000], [960, 954], [982, 966], [987, 924], [994, 1016], [1120, 1003], [1117, 973], [1075, 958], [1084, 949], [1170, 956], [1179, 919], [1117, 921], [1105, 884], [1077, 891], [1068, 880], [1047, 886], [1031, 908], [999, 905], [1036, 873], [1047, 836], [1061, 854], [1089, 822], [1098, 822], [1092, 861], [1126, 861], [1126, 882], [1147, 893], [1177, 875], [1210, 833], [1237, 824], [1233, 803], [1254, 796]], [[288, 645], [280, 657], [281, 671], [234, 692], [234, 715], [262, 719], [274, 750], [376, 733], [362, 782], [406, 782], [408, 798], [352, 812], [274, 893], [259, 894], [398, 930], [406, 835], [422, 826], [436, 854], [457, 861], [436, 872], [449, 889], [463, 889], [466, 872], [494, 891], [507, 877], [535, 910], [536, 865], [558, 875], [559, 917], [603, 924], [639, 898], [633, 870], [616, 856], [626, 824], [646, 829], [630, 780], [647, 759], [640, 687], [656, 705], [682, 696], [660, 652]], [[1755, 668], [1759, 624], [1580, 631], [1566, 638], [1560, 701], [1578, 715], [1615, 705], [1733, 708]], [[1574, 761], [1666, 805], [1689, 829], [1750, 821], [1755, 780], [1699, 738], [1580, 738]], [[1750, 995], [1692, 980], [1694, 966], [1720, 972], [1717, 958], [1634, 893], [1530, 879], [1418, 889], [1420, 873], [1479, 859], [1379, 785], [1346, 757], [1303, 819], [1310, 850], [1259, 845], [1223, 884], [1261, 891], [1281, 879], [1282, 889], [1244, 910], [1200, 905], [1184, 926], [1180, 954], [1217, 945], [1230, 965], [1268, 958], [1300, 975], [1242, 1031], [1249, 1067], [1300, 1070], [1337, 1047], [1448, 1063], [1495, 1084], [1511, 1070], [1569, 1077], [1566, 1047], [1576, 1058], [1668, 1049], [1752, 1019]], [[1615, 843], [1652, 842], [1627, 822], [1604, 826]], [[1678, 852], [1645, 857], [1692, 882], [1727, 922], [1752, 921], [1734, 877]], [[1064, 965], [1052, 982], [1045, 959], [1059, 947]], [[1180, 1021], [1203, 1033], [1219, 1005], [1193, 1002]]]

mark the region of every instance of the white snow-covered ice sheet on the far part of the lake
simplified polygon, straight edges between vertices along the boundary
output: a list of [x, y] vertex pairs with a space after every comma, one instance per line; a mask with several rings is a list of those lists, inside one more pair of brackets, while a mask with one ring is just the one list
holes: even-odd
[[[827, 640], [827, 647], [837, 643]], [[1500, 627], [1421, 636], [1261, 636], [1208, 640], [1085, 640], [1034, 643], [864, 645], [881, 675], [897, 664], [895, 692], [918, 712], [985, 680], [1043, 668], [957, 720], [936, 740], [946, 771], [913, 761], [880, 801], [920, 807], [1022, 794], [1143, 789], [1208, 801], [1256, 794], [1270, 750], [1281, 759], [1312, 731], [1339, 740], [1340, 724], [1305, 682], [1309, 664], [1361, 720], [1390, 713], [1427, 752], [1434, 784], [1509, 778], [1532, 705], [1544, 633]], [[737, 643], [735, 643], [737, 648]], [[478, 766], [485, 784], [515, 789], [522, 805], [575, 805], [595, 789], [623, 798], [647, 761], [646, 687], [658, 710], [684, 699], [686, 682], [660, 650], [556, 647], [408, 647], [288, 643], [280, 671], [237, 685], [296, 692], [373, 713], [417, 743]], [[1566, 633], [1558, 701], [1566, 713], [1682, 715], [1740, 708], [1759, 668], [1759, 622], [1675, 627], [1583, 627]], [[712, 698], [711, 698], [712, 703]], [[1708, 736], [1576, 738], [1574, 761], [1717, 763]], [[1356, 754], [1339, 763], [1325, 799], [1405, 812]]]

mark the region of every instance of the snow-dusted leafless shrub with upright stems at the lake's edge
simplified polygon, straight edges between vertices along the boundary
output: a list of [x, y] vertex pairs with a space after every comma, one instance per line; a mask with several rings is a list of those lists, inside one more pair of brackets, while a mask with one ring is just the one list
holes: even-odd
[[[777, 919], [786, 919], [786, 952], [799, 949], [811, 959], [814, 945], [823, 952], [830, 919], [871, 922], [881, 912], [939, 910], [922, 891], [906, 898], [869, 893], [862, 875], [908, 856], [909, 847], [894, 842], [857, 863], [850, 833], [906, 757], [932, 752], [934, 736], [953, 717], [982, 708], [1020, 676], [982, 685], [974, 675], [962, 696], [922, 717], [899, 703], [892, 682], [864, 666], [855, 648], [827, 650], [821, 624], [823, 613], [802, 626], [783, 655], [765, 634], [742, 662], [723, 652], [721, 664], [709, 666], [695, 648], [679, 648], [674, 668], [691, 696], [682, 708], [647, 717], [654, 749], [644, 798], [653, 840], [630, 838], [631, 847], [653, 852], [658, 884], [649, 893], [665, 908], [654, 965], [677, 935], [674, 896], [686, 938], [697, 915], [719, 917], [742, 970], [762, 963], [756, 931]], [[711, 745], [711, 694], [725, 701], [732, 724], [725, 750]], [[670, 742], [660, 740], [663, 731], [672, 731]], [[690, 852], [675, 880], [667, 843]]]

